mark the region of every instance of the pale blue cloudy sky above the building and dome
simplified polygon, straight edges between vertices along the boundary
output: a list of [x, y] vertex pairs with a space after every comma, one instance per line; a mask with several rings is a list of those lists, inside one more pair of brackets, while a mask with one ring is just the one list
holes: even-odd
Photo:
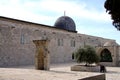
[[71, 17], [78, 33], [110, 38], [120, 44], [120, 31], [104, 9], [105, 0], [1, 0], [0, 16], [53, 26], [64, 15]]

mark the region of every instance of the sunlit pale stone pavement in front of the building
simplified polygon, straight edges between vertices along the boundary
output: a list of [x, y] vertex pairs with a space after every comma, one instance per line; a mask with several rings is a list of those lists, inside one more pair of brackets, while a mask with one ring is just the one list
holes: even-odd
[[[70, 71], [72, 64], [52, 64], [50, 71], [35, 70], [33, 66], [0, 68], [0, 80], [78, 80], [99, 75], [95, 72]], [[106, 80], [119, 80], [120, 68], [107, 67]]]

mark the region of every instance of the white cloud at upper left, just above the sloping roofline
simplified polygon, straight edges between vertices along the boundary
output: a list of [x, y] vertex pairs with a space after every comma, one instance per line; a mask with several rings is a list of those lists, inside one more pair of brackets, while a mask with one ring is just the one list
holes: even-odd
[[24, 4], [19, 4], [19, 0], [11, 0], [9, 3], [6, 3], [6, 5], [0, 5], [0, 7], [2, 7], [0, 8], [0, 16], [38, 23], [45, 23], [53, 19], [51, 16], [45, 16], [44, 14], [38, 15], [31, 12]]

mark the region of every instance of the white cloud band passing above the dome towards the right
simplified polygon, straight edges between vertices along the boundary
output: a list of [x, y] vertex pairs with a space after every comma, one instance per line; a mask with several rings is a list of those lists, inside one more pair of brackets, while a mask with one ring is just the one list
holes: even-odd
[[41, 7], [48, 11], [54, 11], [57, 13], [63, 13], [65, 10], [68, 15], [79, 17], [79, 18], [86, 18], [95, 21], [102, 21], [108, 22], [110, 21], [110, 16], [105, 12], [98, 12], [95, 9], [88, 10], [86, 9], [86, 4], [81, 3], [77, 4], [75, 1], [43, 1], [41, 2]]

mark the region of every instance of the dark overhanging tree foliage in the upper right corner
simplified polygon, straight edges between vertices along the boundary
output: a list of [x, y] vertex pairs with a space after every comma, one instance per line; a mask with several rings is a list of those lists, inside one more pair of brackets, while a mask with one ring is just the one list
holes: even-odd
[[106, 0], [104, 7], [111, 15], [113, 25], [120, 31], [120, 0]]

